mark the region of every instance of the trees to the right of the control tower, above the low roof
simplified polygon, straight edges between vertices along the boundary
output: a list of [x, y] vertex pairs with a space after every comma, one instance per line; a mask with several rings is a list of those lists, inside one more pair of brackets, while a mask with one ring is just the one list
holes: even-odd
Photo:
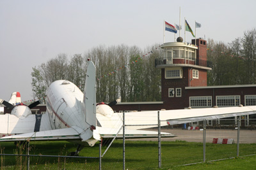
[[256, 30], [245, 31], [243, 38], [231, 43], [207, 41], [207, 59], [212, 71], [207, 85], [242, 85], [256, 83]]

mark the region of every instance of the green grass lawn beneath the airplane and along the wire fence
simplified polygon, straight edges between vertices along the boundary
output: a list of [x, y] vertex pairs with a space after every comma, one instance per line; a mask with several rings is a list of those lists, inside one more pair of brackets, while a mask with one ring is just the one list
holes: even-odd
[[[163, 169], [253, 169], [256, 157], [237, 158], [237, 145], [206, 144], [206, 160], [235, 157], [235, 159], [207, 162], [191, 166], [180, 166], [203, 162], [203, 144], [186, 141], [163, 141], [161, 143]], [[13, 143], [0, 143], [1, 153], [26, 154], [26, 147], [17, 147]], [[31, 155], [68, 155], [76, 150], [76, 145], [66, 141], [30, 142]], [[102, 146], [102, 153], [108, 147]], [[256, 154], [256, 144], [241, 144], [240, 155]], [[99, 144], [86, 146], [79, 156], [99, 157]], [[108, 152], [102, 157], [102, 169], [122, 169], [122, 140], [114, 141]], [[2, 156], [4, 169], [26, 169], [27, 157]], [[241, 166], [241, 164], [243, 166]], [[20, 168], [21, 167], [21, 168]], [[158, 144], [156, 141], [125, 141], [125, 169], [157, 169]], [[253, 167], [253, 168], [250, 168]], [[75, 159], [53, 157], [30, 157], [30, 169], [99, 169], [99, 159]]]

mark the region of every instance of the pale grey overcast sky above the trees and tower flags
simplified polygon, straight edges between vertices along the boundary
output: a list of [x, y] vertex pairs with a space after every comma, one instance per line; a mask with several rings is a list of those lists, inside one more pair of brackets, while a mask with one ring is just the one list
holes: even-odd
[[[19, 91], [33, 99], [32, 67], [58, 53], [84, 53], [99, 45], [163, 43], [164, 20], [181, 25], [184, 17], [197, 37], [230, 43], [256, 25], [256, 1], [86, 1], [0, 0], [0, 98]], [[165, 32], [165, 41], [173, 41]], [[177, 34], [179, 35], [179, 33]], [[184, 29], [180, 33], [184, 38]], [[177, 36], [176, 36], [177, 38]], [[193, 37], [186, 32], [186, 40]]]

